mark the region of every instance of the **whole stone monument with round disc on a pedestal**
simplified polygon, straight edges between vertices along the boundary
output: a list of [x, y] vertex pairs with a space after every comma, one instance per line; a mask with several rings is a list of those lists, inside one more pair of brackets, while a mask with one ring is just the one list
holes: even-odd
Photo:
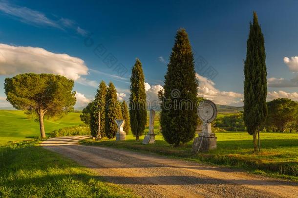
[[205, 100], [198, 108], [198, 116], [202, 120], [202, 132], [198, 133], [198, 137], [193, 139], [192, 152], [199, 151], [206, 152], [216, 149], [215, 133], [211, 130], [211, 122], [216, 118], [216, 105], [210, 101]]

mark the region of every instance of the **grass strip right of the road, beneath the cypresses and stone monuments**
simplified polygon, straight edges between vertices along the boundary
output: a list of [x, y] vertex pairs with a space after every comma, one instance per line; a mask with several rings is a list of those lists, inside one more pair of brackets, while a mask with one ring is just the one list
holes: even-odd
[[261, 133], [261, 152], [253, 152], [252, 136], [247, 132], [219, 132], [217, 149], [208, 153], [191, 154], [192, 141], [178, 148], [169, 145], [161, 135], [156, 143], [143, 145], [127, 135], [126, 141], [85, 140], [83, 144], [145, 151], [197, 162], [208, 162], [245, 169], [249, 172], [298, 181], [298, 134]]

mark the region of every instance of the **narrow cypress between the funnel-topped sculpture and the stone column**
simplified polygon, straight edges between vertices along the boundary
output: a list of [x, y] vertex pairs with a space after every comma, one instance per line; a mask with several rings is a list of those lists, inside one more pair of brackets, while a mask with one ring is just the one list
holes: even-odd
[[129, 98], [129, 115], [130, 127], [132, 134], [139, 140], [144, 134], [147, 122], [145, 77], [143, 74], [142, 64], [136, 59], [131, 69], [130, 77], [130, 98]]

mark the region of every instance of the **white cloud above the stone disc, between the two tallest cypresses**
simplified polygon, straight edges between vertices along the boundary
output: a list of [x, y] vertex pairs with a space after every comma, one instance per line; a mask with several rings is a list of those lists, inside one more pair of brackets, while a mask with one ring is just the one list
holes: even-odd
[[243, 105], [243, 94], [233, 91], [220, 91], [215, 88], [215, 83], [196, 73], [196, 78], [199, 80], [198, 95], [205, 99], [212, 100], [219, 105]]

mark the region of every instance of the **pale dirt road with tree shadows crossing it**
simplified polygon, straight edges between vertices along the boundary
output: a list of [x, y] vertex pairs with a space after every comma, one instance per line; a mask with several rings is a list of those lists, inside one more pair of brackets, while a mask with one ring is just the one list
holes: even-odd
[[151, 154], [80, 145], [85, 136], [57, 137], [42, 146], [95, 170], [142, 197], [298, 198], [298, 182], [235, 172]]

